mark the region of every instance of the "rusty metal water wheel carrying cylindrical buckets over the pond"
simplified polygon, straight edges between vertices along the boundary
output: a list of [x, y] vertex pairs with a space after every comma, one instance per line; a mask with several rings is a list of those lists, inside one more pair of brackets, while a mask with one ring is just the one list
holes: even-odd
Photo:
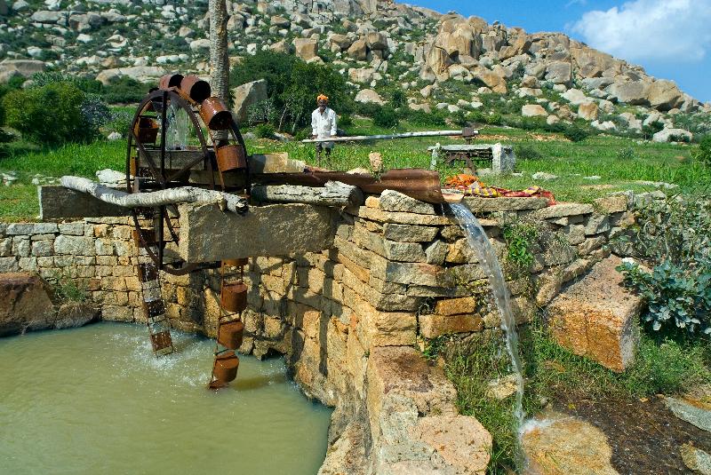
[[[169, 134], [187, 115], [187, 140]], [[185, 116], [183, 116], [183, 119]], [[189, 136], [189, 137], [188, 137]], [[242, 134], [228, 108], [211, 97], [210, 84], [195, 75], [166, 75], [148, 92], [133, 116], [126, 152], [129, 193], [196, 186], [235, 193], [249, 190], [249, 170]], [[177, 207], [132, 210], [133, 226], [157, 268], [183, 275], [219, 263], [185, 263], [177, 256], [180, 241]]]

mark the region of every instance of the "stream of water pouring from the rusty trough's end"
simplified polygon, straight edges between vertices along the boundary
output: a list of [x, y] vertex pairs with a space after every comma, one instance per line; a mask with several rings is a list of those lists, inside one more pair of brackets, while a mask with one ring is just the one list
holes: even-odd
[[514, 313], [511, 312], [511, 302], [508, 297], [508, 287], [504, 280], [504, 274], [501, 272], [499, 259], [496, 257], [496, 252], [491, 247], [491, 242], [483, 231], [483, 227], [475, 218], [470, 210], [463, 204], [451, 203], [450, 209], [452, 214], [459, 221], [464, 234], [467, 235], [467, 241], [471, 249], [479, 258], [479, 264], [482, 265], [484, 273], [489, 279], [491, 293], [493, 294], [496, 306], [499, 309], [501, 316], [501, 329], [506, 335], [506, 347], [508, 355], [511, 357], [511, 365], [514, 369], [516, 379], [516, 400], [514, 408], [514, 416], [516, 418], [516, 431], [521, 435], [523, 428], [523, 369], [521, 359], [518, 355], [518, 332], [516, 331], [516, 321]]

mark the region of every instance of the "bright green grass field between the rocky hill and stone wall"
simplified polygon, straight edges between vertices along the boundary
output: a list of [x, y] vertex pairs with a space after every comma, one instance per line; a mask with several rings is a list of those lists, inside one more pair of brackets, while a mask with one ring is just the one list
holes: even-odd
[[[401, 123], [393, 130], [372, 125], [368, 119], [357, 118], [348, 128], [348, 135], [375, 134], [422, 130], [409, 123]], [[539, 185], [555, 194], [558, 201], [591, 202], [615, 191], [632, 189], [651, 191], [656, 186], [638, 181], [675, 184], [672, 193], [707, 193], [711, 186], [711, 170], [691, 159], [691, 146], [671, 144], [637, 144], [634, 139], [597, 136], [573, 143], [550, 133], [489, 127], [481, 131], [479, 143], [512, 144], [517, 154], [516, 171], [521, 176], [485, 178], [493, 186], [512, 189]], [[450, 138], [380, 140], [368, 143], [338, 145], [331, 161], [325, 166], [332, 170], [370, 168], [368, 154], [382, 154], [387, 169], [429, 168], [427, 146], [437, 141], [444, 144], [461, 143]], [[279, 142], [268, 139], [247, 141], [250, 153], [287, 152], [291, 158], [316, 164], [313, 145], [300, 142]], [[0, 155], [0, 172], [13, 171], [18, 176], [16, 185], [0, 186], [0, 219], [31, 220], [38, 211], [36, 186], [31, 185], [36, 174], [61, 177], [79, 175], [94, 178], [95, 171], [105, 168], [124, 170], [125, 141], [97, 141], [88, 145], [68, 144], [42, 150], [17, 142], [7, 146]], [[444, 178], [461, 172], [460, 168], [438, 165]], [[534, 180], [531, 175], [545, 171], [558, 178]], [[590, 179], [587, 177], [600, 178]]]

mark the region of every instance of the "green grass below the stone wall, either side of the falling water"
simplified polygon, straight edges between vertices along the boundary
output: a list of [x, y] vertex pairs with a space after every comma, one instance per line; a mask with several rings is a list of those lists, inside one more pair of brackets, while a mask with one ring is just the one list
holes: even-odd
[[[492, 400], [487, 383], [510, 371], [503, 336], [478, 335], [467, 343], [443, 336], [428, 346], [442, 354], [445, 373], [457, 388], [461, 414], [475, 416], [493, 437], [489, 473], [509, 473], [516, 465], [514, 398]], [[711, 382], [707, 340], [690, 342], [643, 335], [635, 366], [613, 373], [555, 344], [541, 321], [521, 328], [524, 365], [523, 408], [532, 415], [551, 400], [643, 398], [683, 392]], [[434, 354], [428, 355], [430, 358]]]

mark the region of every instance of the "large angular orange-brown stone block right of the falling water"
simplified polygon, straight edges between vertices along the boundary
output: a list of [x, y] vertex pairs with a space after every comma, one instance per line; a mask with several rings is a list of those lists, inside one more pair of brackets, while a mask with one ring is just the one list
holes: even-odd
[[622, 274], [615, 270], [620, 262], [619, 257], [604, 259], [548, 306], [555, 341], [613, 371], [635, 361], [642, 309], [642, 299], [622, 286]]

